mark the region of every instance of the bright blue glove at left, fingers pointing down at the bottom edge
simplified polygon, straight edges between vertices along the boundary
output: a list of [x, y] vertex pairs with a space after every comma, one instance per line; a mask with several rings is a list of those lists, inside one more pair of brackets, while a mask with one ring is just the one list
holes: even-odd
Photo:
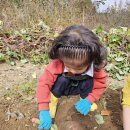
[[40, 130], [42, 130], [43, 128], [46, 130], [51, 128], [52, 118], [51, 118], [50, 112], [48, 110], [40, 111], [39, 118], [40, 118], [40, 125], [38, 128]]

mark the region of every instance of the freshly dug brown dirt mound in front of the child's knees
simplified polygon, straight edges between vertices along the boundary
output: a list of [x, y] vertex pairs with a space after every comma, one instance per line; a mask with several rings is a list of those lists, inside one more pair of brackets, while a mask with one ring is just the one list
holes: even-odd
[[107, 89], [102, 98], [107, 101], [106, 109], [112, 111], [111, 116], [103, 117], [105, 122], [102, 125], [95, 121], [95, 115], [104, 109], [101, 101], [97, 102], [98, 109], [95, 112], [82, 116], [74, 108], [78, 97], [61, 99], [55, 119], [59, 130], [123, 130], [119, 91]]

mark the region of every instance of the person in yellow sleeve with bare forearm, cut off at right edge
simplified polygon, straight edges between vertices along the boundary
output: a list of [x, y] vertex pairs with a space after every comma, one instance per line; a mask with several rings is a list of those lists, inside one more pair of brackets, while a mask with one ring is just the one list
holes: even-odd
[[127, 78], [123, 92], [123, 126], [124, 130], [130, 130], [130, 75]]

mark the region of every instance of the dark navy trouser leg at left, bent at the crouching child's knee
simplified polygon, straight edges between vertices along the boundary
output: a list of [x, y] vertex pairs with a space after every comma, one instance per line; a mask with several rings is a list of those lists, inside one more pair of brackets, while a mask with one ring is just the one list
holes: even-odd
[[51, 92], [57, 98], [64, 95], [65, 89], [69, 86], [70, 79], [60, 75], [54, 85], [52, 86]]

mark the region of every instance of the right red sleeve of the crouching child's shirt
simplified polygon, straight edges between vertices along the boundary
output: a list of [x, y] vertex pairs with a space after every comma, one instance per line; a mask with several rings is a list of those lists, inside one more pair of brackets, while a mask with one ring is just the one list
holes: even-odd
[[107, 87], [106, 80], [107, 74], [105, 73], [104, 69], [100, 69], [98, 72], [94, 72], [94, 86], [92, 92], [89, 93], [86, 99], [90, 100], [91, 103], [99, 100], [105, 88]]

